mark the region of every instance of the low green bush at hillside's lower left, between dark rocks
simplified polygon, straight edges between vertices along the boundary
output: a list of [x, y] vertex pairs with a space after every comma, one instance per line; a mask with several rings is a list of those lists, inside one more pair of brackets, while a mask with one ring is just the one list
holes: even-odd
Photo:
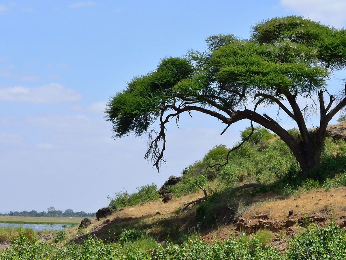
[[136, 190], [137, 192], [131, 194], [127, 193], [127, 191], [117, 192], [114, 198], [108, 196], [110, 200], [109, 207], [117, 209], [119, 207], [134, 206], [140, 202], [149, 202], [160, 198], [155, 183], [137, 187]]

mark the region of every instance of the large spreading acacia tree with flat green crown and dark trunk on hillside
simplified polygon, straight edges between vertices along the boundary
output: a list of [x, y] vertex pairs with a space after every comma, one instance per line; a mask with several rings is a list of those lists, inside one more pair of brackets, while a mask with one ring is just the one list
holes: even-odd
[[[159, 170], [165, 126], [184, 112], [199, 111], [224, 123], [222, 133], [243, 119], [273, 131], [291, 149], [302, 175], [319, 165], [326, 127], [346, 105], [346, 85], [336, 93], [327, 85], [329, 75], [345, 68], [346, 31], [288, 16], [253, 26], [249, 39], [213, 35], [206, 42], [206, 52], [163, 59], [110, 99], [106, 113], [115, 137], [147, 133], [145, 157]], [[299, 97], [311, 105], [300, 107]], [[260, 104], [287, 114], [300, 136], [281, 127], [278, 117], [257, 113]], [[311, 113], [320, 116], [315, 131], [306, 125]], [[148, 131], [157, 120], [158, 128]]]

